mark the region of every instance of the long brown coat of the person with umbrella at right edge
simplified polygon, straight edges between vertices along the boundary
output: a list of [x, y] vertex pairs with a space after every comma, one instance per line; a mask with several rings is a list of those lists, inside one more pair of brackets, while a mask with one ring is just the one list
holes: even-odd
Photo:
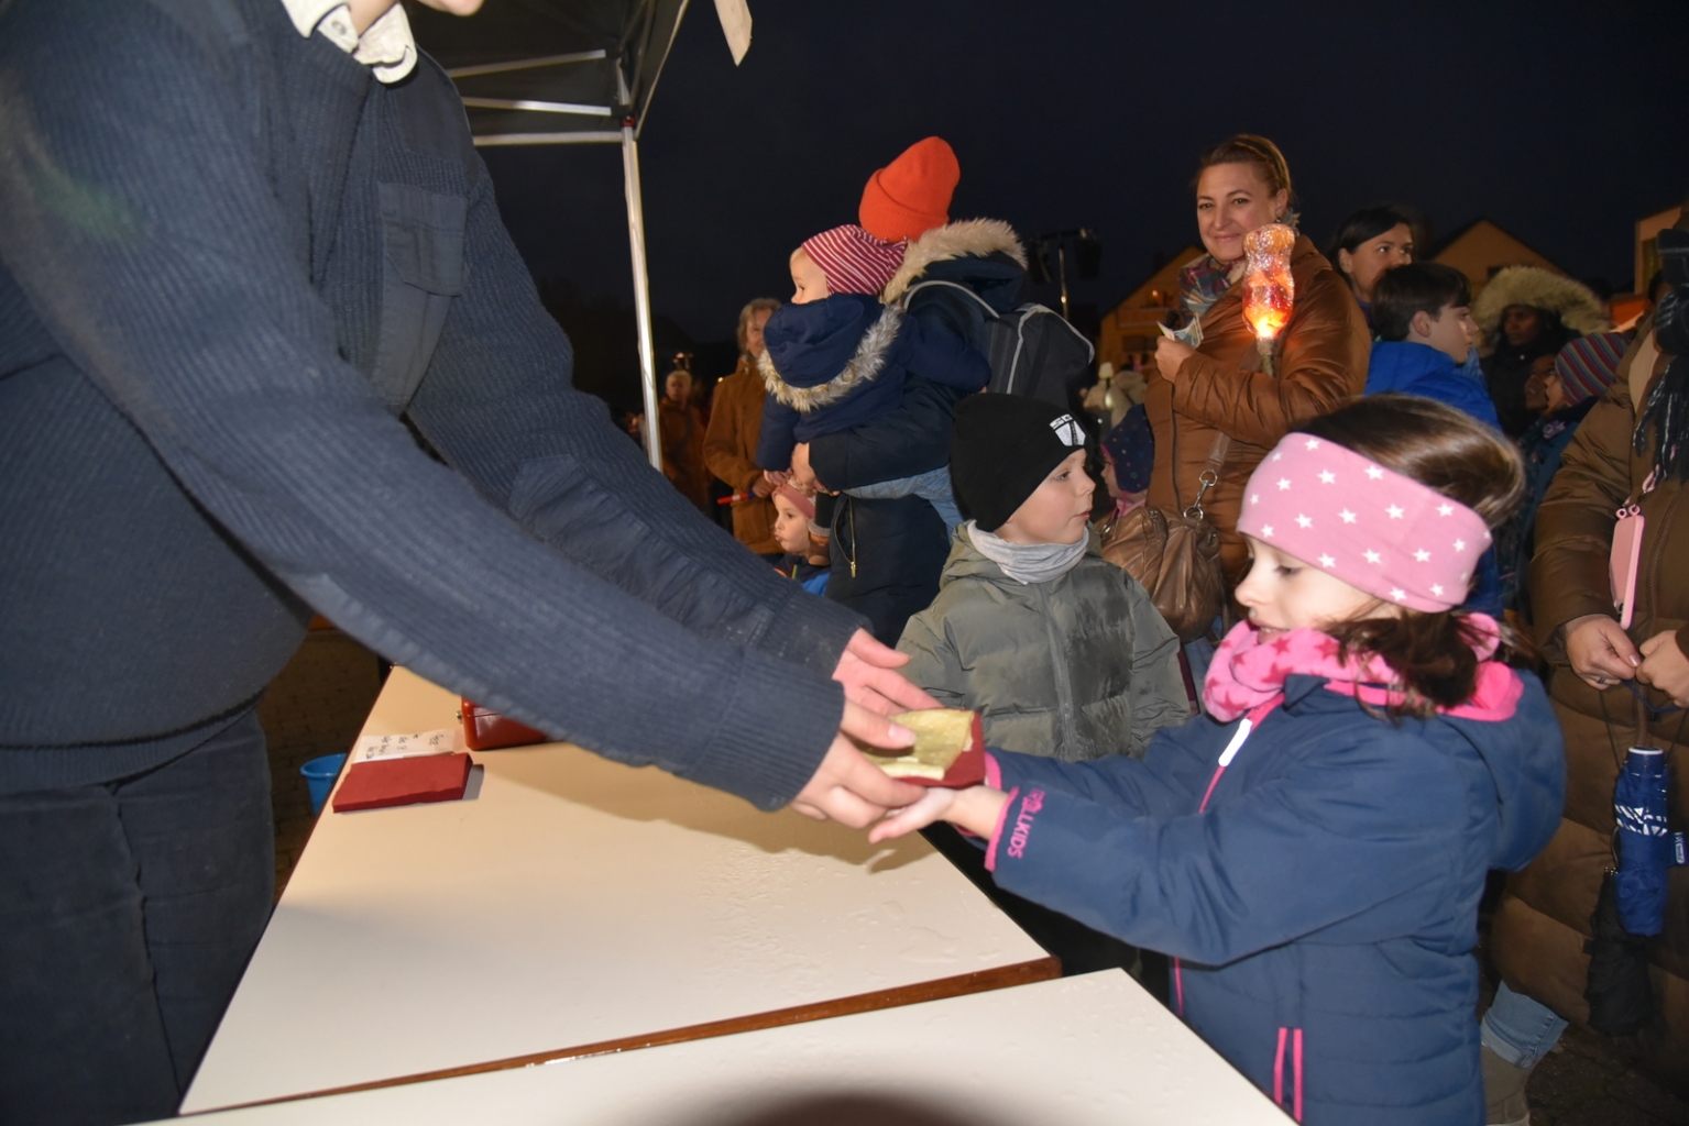
[[[1554, 665], [1549, 696], [1566, 733], [1566, 814], [1559, 832], [1527, 869], [1508, 880], [1496, 910], [1491, 947], [1507, 983], [1567, 1020], [1584, 1021], [1589, 915], [1601, 871], [1613, 861], [1613, 785], [1625, 750], [1637, 743], [1633, 697], [1625, 685], [1596, 692], [1566, 665], [1562, 625], [1584, 614], [1613, 613], [1608, 552], [1618, 508], [1642, 491], [1654, 449], [1632, 447], [1635, 414], [1628, 368], [1632, 344], [1606, 398], [1594, 405], [1566, 449], [1561, 471], [1537, 510], [1537, 554], [1530, 564], [1532, 611], [1544, 653]], [[1667, 358], [1654, 365], [1654, 378]], [[1640, 380], [1638, 380], [1640, 383]], [[1689, 623], [1689, 490], [1667, 481], [1642, 500], [1647, 520], [1637, 569], [1637, 613], [1630, 638], [1642, 645]], [[1689, 652], [1686, 648], [1684, 652]], [[1647, 689], [1652, 704], [1670, 704]], [[1674, 827], [1689, 826], [1689, 712], [1650, 724], [1648, 741], [1667, 748], [1675, 775]], [[1660, 1015], [1643, 1037], [1659, 1062], [1689, 1080], [1689, 868], [1670, 874], [1665, 932], [1648, 944]]]

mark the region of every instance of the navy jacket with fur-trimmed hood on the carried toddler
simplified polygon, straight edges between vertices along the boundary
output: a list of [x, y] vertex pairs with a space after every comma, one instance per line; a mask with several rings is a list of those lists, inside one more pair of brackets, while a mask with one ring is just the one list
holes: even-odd
[[[910, 375], [958, 393], [976, 392], [991, 376], [985, 356], [961, 338], [924, 331], [919, 321], [861, 294], [780, 306], [763, 339], [768, 349], [758, 366], [768, 398], [757, 442], [763, 469], [790, 466], [797, 442], [892, 419]], [[948, 427], [937, 449], [949, 451]]]

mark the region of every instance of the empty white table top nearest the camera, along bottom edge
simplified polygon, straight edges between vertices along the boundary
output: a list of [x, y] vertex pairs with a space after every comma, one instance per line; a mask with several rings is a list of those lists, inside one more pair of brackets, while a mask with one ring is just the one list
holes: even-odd
[[[843, 1116], [843, 1099], [882, 1102]], [[829, 1104], [836, 1118], [824, 1112]], [[895, 1114], [888, 1106], [922, 1107], [927, 1116]], [[1103, 971], [622, 1055], [226, 1111], [204, 1121], [1282, 1126], [1290, 1119], [1130, 977]]]

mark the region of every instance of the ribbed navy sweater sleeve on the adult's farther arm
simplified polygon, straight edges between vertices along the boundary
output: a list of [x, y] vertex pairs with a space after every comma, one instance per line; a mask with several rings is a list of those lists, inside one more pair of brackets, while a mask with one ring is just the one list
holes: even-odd
[[652, 471], [603, 402], [569, 387], [569, 341], [539, 304], [480, 171], [464, 292], [410, 419], [481, 493], [579, 567], [704, 638], [831, 674], [860, 620], [780, 582]]

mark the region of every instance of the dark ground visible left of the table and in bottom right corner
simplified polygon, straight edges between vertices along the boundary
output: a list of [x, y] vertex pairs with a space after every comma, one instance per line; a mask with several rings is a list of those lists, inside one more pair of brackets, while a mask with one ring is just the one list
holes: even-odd
[[[351, 748], [378, 690], [373, 653], [338, 630], [314, 630], [258, 704], [270, 736], [277, 895], [314, 824], [299, 766]], [[1638, 1055], [1633, 1038], [1567, 1031], [1530, 1079], [1534, 1126], [1689, 1126], [1689, 1099], [1640, 1070]]]

